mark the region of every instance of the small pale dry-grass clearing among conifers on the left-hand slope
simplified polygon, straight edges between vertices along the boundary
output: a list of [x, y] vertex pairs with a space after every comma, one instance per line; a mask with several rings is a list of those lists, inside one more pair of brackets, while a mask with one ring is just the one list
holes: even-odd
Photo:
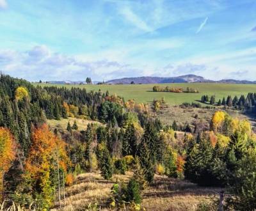
[[72, 126], [74, 124], [74, 121], [76, 120], [78, 130], [86, 130], [88, 123], [96, 123], [96, 124], [101, 124], [99, 121], [92, 121], [92, 120], [82, 120], [82, 119], [77, 119], [77, 118], [67, 118], [61, 120], [47, 120], [47, 123], [50, 125], [51, 128], [53, 129], [60, 129], [60, 130], [65, 130], [68, 125], [68, 121], [70, 122], [70, 125]]

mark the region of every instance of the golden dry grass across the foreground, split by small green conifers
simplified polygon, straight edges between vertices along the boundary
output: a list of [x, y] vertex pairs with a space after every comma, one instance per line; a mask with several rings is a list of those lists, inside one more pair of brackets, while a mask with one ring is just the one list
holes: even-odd
[[[104, 180], [99, 173], [78, 175], [74, 185], [66, 189], [66, 208], [62, 210], [88, 210], [95, 203], [100, 210], [110, 210], [108, 199], [112, 185], [127, 182], [131, 176], [132, 172], [127, 172]], [[156, 175], [154, 184], [143, 192], [141, 207], [146, 210], [195, 210], [200, 201], [210, 199], [216, 192], [220, 189], [198, 187], [184, 180]]]

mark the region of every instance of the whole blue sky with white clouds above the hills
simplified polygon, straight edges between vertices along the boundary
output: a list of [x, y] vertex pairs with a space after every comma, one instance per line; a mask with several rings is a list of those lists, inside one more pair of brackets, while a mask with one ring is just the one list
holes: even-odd
[[0, 71], [29, 81], [256, 81], [256, 1], [0, 0]]

